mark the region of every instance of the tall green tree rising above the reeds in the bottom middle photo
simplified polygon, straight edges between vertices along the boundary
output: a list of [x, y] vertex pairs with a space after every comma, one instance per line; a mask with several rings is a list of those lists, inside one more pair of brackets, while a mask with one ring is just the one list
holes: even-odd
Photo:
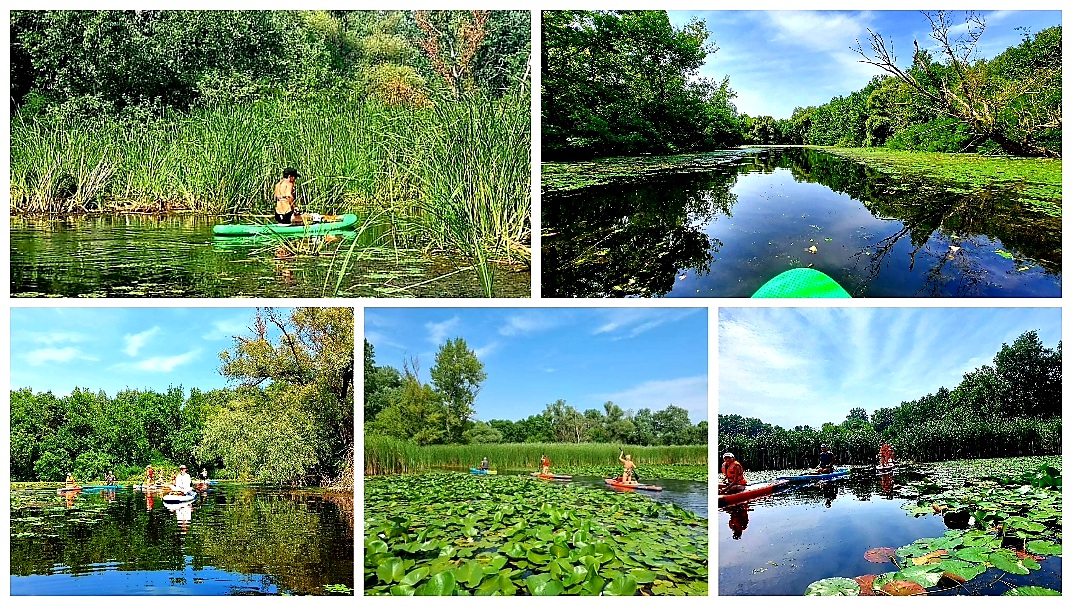
[[432, 384], [446, 407], [446, 438], [449, 442], [461, 442], [462, 431], [476, 412], [473, 402], [480, 383], [488, 378], [483, 364], [459, 337], [440, 348], [431, 372]]

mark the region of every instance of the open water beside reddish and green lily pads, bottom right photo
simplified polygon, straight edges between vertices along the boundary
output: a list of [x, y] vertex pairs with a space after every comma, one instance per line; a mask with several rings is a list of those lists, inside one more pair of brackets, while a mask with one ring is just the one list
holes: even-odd
[[[900, 506], [908, 473], [885, 485], [877, 476], [808, 485], [758, 499], [745, 507], [718, 512], [719, 595], [803, 595], [808, 585], [828, 577], [880, 575], [892, 563], [864, 560], [875, 547], [902, 547], [948, 529], [938, 516], [912, 517]], [[914, 504], [914, 500], [912, 500]], [[1060, 589], [1061, 559], [1046, 558], [1029, 576], [1008, 575], [1016, 586]], [[988, 580], [992, 568], [971, 581], [981, 594], [1008, 587]], [[979, 588], [982, 589], [979, 589]]]

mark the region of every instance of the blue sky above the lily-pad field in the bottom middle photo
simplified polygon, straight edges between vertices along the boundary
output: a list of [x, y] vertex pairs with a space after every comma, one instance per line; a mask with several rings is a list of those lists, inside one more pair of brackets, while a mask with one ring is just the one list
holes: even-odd
[[579, 411], [610, 400], [634, 412], [668, 404], [708, 418], [706, 309], [367, 309], [376, 364], [420, 379], [448, 339], [461, 337], [488, 374], [477, 418], [519, 419], [565, 400]]

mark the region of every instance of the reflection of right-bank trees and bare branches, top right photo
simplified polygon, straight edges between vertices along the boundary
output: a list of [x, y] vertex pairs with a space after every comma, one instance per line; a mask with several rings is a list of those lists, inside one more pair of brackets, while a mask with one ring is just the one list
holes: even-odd
[[[984, 236], [1036, 261], [1048, 274], [1061, 271], [1060, 220], [1025, 208], [1012, 191], [966, 194], [923, 178], [894, 180], [857, 162], [810, 149], [785, 150], [775, 163], [789, 167], [798, 181], [818, 182], [862, 201], [877, 219], [903, 223], [894, 234], [854, 255], [858, 262], [866, 261], [867, 281], [889, 264], [894, 246], [906, 237], [911, 246], [909, 269], [918, 256], [929, 258], [925, 286], [917, 294], [980, 294], [982, 286], [989, 285], [985, 264], [959, 251], [964, 243], [985, 246], [980, 240]], [[936, 235], [956, 248], [927, 248]], [[952, 290], [954, 280], [958, 283]]]

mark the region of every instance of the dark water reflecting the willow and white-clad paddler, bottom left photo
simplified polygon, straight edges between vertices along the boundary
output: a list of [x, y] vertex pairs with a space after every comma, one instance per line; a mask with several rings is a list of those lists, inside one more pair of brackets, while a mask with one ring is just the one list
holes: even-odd
[[218, 485], [179, 506], [129, 488], [13, 490], [11, 533], [13, 595], [354, 588], [352, 493]]

